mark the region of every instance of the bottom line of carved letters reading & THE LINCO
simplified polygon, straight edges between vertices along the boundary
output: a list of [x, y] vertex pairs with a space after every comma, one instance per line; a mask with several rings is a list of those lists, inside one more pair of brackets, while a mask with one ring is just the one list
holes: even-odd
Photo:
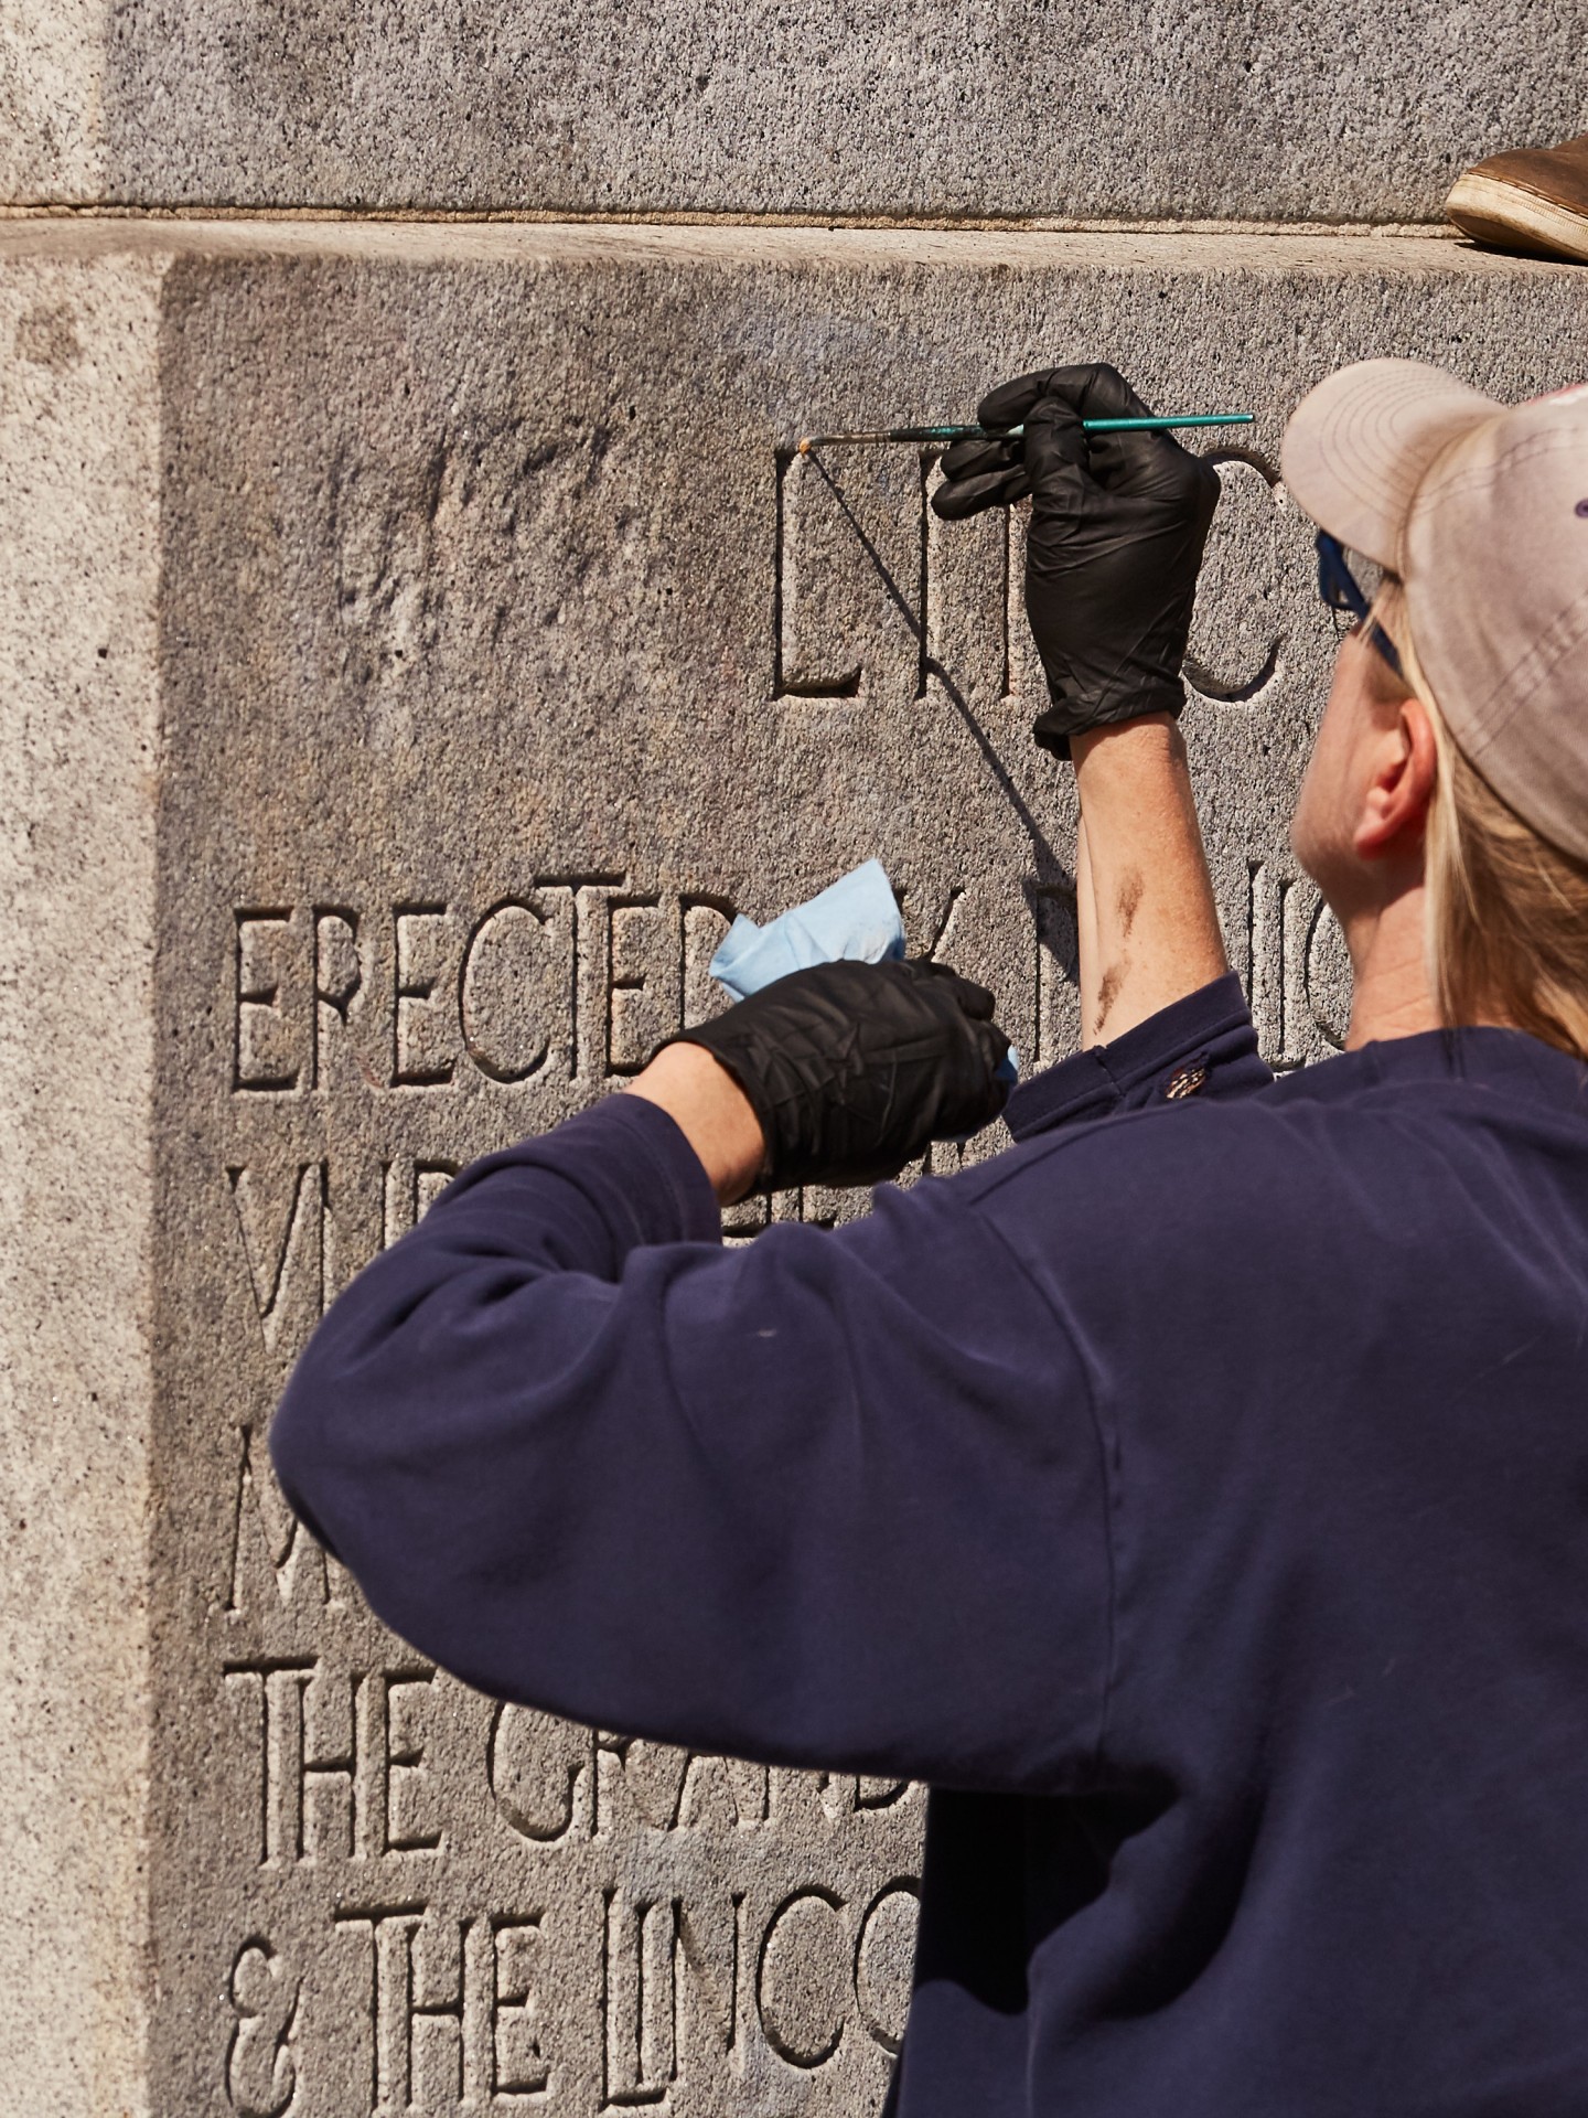
[[[692, 1900], [601, 1891], [597, 1961], [597, 2112], [671, 2107], [694, 2080], [760, 2103], [769, 2082], [832, 2067], [862, 2038], [881, 2061], [902, 2042], [917, 1883], [900, 1877], [860, 1902], [824, 1885], [754, 1910], [741, 1889]], [[426, 1898], [349, 1902], [332, 1936], [354, 1951], [362, 2006], [358, 2110], [515, 2112], [553, 2099], [580, 2042], [559, 2018], [561, 1957], [582, 1951], [565, 1910], [451, 1915]], [[233, 2107], [282, 2118], [303, 2076], [294, 2050], [301, 1980], [267, 1942], [233, 1970]], [[271, 2097], [286, 2101], [275, 2101]], [[252, 2101], [250, 2101], [252, 2099]]]

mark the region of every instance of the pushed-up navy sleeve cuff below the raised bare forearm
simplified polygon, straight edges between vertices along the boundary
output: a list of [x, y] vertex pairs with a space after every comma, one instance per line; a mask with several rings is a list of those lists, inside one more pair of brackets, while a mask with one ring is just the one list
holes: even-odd
[[1258, 1031], [1230, 972], [1186, 993], [1112, 1044], [1061, 1059], [1014, 1091], [1004, 1112], [1016, 1139], [1061, 1125], [1086, 1125], [1154, 1103], [1224, 1101], [1273, 1082], [1258, 1055]]

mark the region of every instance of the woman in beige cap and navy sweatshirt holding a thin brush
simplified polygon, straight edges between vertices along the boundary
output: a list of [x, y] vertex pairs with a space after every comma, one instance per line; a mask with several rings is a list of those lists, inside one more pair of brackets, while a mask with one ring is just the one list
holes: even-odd
[[[930, 1781], [889, 2107], [1588, 2107], [1588, 394], [1323, 383], [1342, 642], [1296, 851], [1349, 1051], [1270, 1080], [1179, 659], [1211, 472], [1107, 369], [995, 392], [1082, 815], [1088, 1051], [841, 1231], [752, 1182], [997, 1108], [974, 987], [830, 966], [466, 1171], [337, 1303], [282, 1483], [472, 1684]], [[1336, 542], [1338, 540], [1338, 542]], [[1368, 614], [1366, 568], [1389, 570]]]

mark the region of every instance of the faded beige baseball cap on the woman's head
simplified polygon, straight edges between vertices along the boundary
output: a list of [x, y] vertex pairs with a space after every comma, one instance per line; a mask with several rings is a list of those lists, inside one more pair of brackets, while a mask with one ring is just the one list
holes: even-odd
[[1281, 464], [1319, 527], [1400, 574], [1463, 754], [1588, 860], [1588, 383], [1499, 405], [1423, 360], [1361, 360], [1302, 398]]

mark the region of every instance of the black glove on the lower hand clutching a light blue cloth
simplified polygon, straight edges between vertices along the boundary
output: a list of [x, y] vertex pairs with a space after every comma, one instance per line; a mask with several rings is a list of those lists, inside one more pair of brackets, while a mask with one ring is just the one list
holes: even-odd
[[881, 1184], [989, 1125], [1010, 1040], [993, 995], [946, 964], [815, 964], [773, 981], [671, 1044], [733, 1074], [766, 1137], [758, 1190]]

